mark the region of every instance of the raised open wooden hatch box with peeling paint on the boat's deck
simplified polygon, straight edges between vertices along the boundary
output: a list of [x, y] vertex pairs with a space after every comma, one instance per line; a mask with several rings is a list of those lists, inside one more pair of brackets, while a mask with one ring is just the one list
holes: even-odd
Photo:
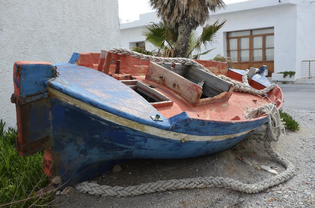
[[195, 106], [225, 101], [232, 84], [187, 64], [149, 64], [146, 79], [165, 85]]

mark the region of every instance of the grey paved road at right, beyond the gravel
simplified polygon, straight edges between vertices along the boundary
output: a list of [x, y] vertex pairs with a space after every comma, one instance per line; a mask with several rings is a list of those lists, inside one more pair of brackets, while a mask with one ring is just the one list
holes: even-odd
[[279, 84], [284, 108], [315, 111], [315, 85]]

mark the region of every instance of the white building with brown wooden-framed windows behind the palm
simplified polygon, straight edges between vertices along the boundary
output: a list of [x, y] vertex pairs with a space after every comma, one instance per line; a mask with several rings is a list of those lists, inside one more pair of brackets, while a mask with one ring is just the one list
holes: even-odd
[[[251, 0], [228, 4], [226, 9], [210, 15], [226, 19], [219, 31], [218, 44], [200, 59], [210, 59], [222, 53], [238, 61], [234, 68], [267, 65], [274, 72], [296, 71], [302, 77], [301, 64], [315, 60], [315, 0]], [[155, 13], [140, 14], [140, 19], [120, 25], [122, 47], [143, 46], [144, 25], [160, 20]], [[198, 29], [201, 34], [201, 27]], [[152, 50], [146, 44], [147, 50]], [[307, 73], [306, 73], [307, 75]]]

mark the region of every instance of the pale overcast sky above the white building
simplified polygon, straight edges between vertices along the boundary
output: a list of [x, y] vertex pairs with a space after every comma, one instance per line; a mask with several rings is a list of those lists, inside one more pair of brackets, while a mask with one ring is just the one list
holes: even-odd
[[[226, 4], [244, 2], [248, 0], [224, 0]], [[148, 0], [118, 0], [119, 18], [122, 23], [132, 22], [139, 19], [139, 14], [153, 12]]]

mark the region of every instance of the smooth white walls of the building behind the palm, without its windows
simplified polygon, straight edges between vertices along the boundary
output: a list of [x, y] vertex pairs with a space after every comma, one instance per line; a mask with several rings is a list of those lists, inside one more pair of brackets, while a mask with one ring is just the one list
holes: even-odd
[[[219, 31], [218, 43], [208, 47], [208, 50], [216, 49], [201, 59], [210, 59], [218, 53], [226, 56], [226, 32], [274, 27], [275, 72], [296, 71], [296, 78], [301, 78], [301, 61], [315, 60], [315, 2], [311, 0], [251, 0], [228, 4], [225, 10], [210, 15], [208, 23], [216, 19], [227, 19], [227, 22]], [[144, 41], [143, 25], [158, 21], [152, 12], [140, 15], [138, 21], [121, 24], [122, 46]], [[201, 27], [197, 30], [199, 34], [202, 31]]]

